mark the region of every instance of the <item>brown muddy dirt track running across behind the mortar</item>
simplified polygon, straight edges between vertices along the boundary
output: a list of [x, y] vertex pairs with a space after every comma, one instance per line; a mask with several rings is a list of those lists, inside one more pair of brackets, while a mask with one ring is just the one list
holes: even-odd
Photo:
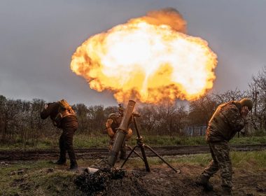
[[[266, 149], [266, 144], [256, 145], [232, 145], [231, 151], [262, 151]], [[208, 146], [162, 146], [154, 147], [153, 150], [159, 155], [189, 155], [197, 153], [209, 153]], [[107, 148], [86, 148], [75, 149], [77, 158], [104, 158], [108, 155]], [[130, 149], [128, 150], [130, 152]], [[139, 148], [137, 152], [140, 153]], [[0, 161], [13, 160], [44, 160], [57, 159], [59, 150], [35, 150], [35, 151], [0, 151]], [[146, 148], [146, 155], [148, 157], [155, 156], [148, 148]], [[134, 153], [132, 154], [134, 155]]]

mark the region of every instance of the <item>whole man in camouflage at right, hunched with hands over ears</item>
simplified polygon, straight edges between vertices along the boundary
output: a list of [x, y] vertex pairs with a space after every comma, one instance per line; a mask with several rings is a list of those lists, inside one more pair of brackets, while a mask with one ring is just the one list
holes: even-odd
[[252, 106], [253, 102], [247, 98], [218, 106], [209, 120], [206, 133], [206, 141], [209, 144], [213, 160], [200, 175], [197, 180], [198, 185], [204, 186], [207, 190], [213, 190], [209, 179], [220, 169], [223, 195], [232, 194], [232, 163], [228, 141], [244, 128], [246, 116]]

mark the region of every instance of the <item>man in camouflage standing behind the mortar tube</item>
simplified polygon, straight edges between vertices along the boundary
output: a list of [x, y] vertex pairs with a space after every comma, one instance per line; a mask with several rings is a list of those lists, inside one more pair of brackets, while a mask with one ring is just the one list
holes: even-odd
[[[123, 118], [123, 107], [119, 104], [118, 107], [118, 113], [111, 113], [106, 121], [106, 133], [110, 137], [109, 141], [109, 151], [111, 151], [111, 148], [113, 146], [113, 142], [116, 136], [116, 131], [118, 130], [118, 127], [120, 126], [121, 120]], [[129, 129], [128, 133], [125, 137], [125, 141], [130, 139], [132, 137], [132, 130]], [[120, 160], [125, 160], [126, 159], [126, 146], [125, 146], [125, 141], [123, 142], [123, 145], [120, 150]]]

